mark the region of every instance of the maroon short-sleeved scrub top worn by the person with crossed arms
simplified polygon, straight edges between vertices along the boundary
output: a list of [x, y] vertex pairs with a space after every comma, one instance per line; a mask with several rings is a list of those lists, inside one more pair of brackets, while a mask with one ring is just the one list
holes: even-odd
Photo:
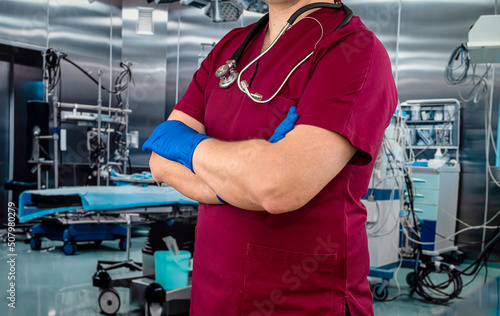
[[[205, 59], [176, 105], [225, 141], [269, 139], [291, 106], [297, 124], [346, 137], [359, 150], [309, 203], [272, 215], [232, 205], [200, 204], [196, 229], [191, 315], [372, 315], [366, 195], [383, 136], [397, 104], [383, 45], [359, 20], [334, 32], [345, 14], [320, 9], [289, 29], [243, 74], [250, 91], [268, 98], [316, 46], [271, 102], [258, 104], [236, 84], [214, 76], [251, 26], [229, 32]], [[241, 70], [262, 47], [265, 30], [245, 50]], [[321, 41], [318, 40], [321, 38]], [[311, 139], [311, 141], [314, 141]], [[288, 159], [301, 159], [300, 156]]]

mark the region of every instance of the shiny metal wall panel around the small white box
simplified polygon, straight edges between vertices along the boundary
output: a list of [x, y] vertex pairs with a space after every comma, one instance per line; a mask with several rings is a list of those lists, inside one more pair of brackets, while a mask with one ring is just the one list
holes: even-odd
[[[137, 32], [139, 10], [152, 10], [152, 34]], [[124, 0], [122, 8], [122, 58], [133, 63], [130, 88], [131, 130], [139, 131], [140, 144], [165, 117], [168, 5]], [[134, 166], [148, 168], [149, 155], [140, 148], [130, 151]]]

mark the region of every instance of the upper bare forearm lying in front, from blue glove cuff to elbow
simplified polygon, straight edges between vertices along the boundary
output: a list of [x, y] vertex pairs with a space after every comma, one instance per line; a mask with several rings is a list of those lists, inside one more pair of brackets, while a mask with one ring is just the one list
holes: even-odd
[[283, 159], [282, 144], [209, 139], [195, 151], [195, 172], [229, 204], [270, 213], [292, 211], [315, 193], [301, 186], [306, 180], [301, 179], [303, 172], [294, 166], [293, 159]]

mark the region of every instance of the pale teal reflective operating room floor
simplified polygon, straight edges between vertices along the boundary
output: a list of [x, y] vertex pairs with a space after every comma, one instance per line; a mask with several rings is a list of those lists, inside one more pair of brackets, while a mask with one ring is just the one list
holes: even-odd
[[[141, 261], [141, 248], [145, 237], [132, 240], [131, 258]], [[42, 250], [32, 251], [29, 244], [19, 238], [15, 249], [0, 243], [0, 315], [2, 316], [92, 316], [100, 315], [97, 303], [98, 289], [92, 286], [97, 260], [126, 259], [126, 252], [118, 248], [118, 240], [104, 241], [102, 245], [79, 244], [75, 255], [66, 256], [62, 242], [43, 239]], [[16, 254], [13, 256], [11, 254]], [[15, 258], [15, 259], [13, 259]], [[463, 265], [465, 266], [465, 265]], [[401, 269], [397, 280], [402, 296], [393, 301], [374, 302], [375, 315], [500, 315], [500, 268], [489, 267], [488, 284], [484, 283], [484, 269], [474, 282], [462, 291], [463, 299], [447, 306], [420, 302], [408, 296], [405, 278], [410, 270]], [[9, 275], [10, 273], [10, 275]], [[9, 280], [9, 276], [11, 280]], [[12, 278], [15, 276], [15, 280]], [[464, 283], [469, 279], [464, 278]], [[373, 283], [380, 280], [371, 279]], [[10, 282], [15, 282], [11, 287]], [[121, 307], [117, 315], [140, 315], [141, 310], [130, 307], [129, 290], [117, 288]], [[12, 295], [14, 293], [15, 295]], [[395, 280], [391, 280], [389, 299], [398, 295]], [[9, 307], [15, 298], [14, 308]]]

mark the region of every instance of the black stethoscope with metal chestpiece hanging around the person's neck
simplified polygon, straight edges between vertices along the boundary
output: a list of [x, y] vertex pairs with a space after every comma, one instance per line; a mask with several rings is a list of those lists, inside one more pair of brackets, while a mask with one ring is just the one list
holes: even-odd
[[[226, 61], [226, 63], [222, 66], [220, 66], [217, 71], [215, 72], [215, 76], [217, 78], [220, 78], [219, 86], [221, 88], [228, 88], [230, 87], [233, 83], [236, 81], [238, 82], [238, 87], [240, 90], [248, 95], [250, 99], [252, 99], [254, 102], [257, 103], [267, 103], [274, 99], [276, 95], [281, 91], [285, 83], [288, 81], [288, 78], [293, 74], [293, 72], [300, 66], [302, 65], [309, 57], [312, 56], [314, 53], [314, 49], [309, 55], [307, 55], [304, 59], [302, 59], [295, 67], [288, 73], [286, 76], [285, 80], [281, 84], [281, 86], [278, 88], [278, 90], [267, 100], [262, 100], [262, 95], [258, 93], [251, 93], [248, 89], [248, 83], [243, 80], [241, 81], [241, 75], [254, 63], [256, 63], [262, 56], [264, 56], [273, 46], [276, 44], [276, 42], [280, 39], [280, 37], [293, 25], [295, 20], [304, 12], [312, 10], [312, 9], [318, 9], [318, 8], [330, 8], [330, 9], [336, 9], [336, 10], [342, 10], [345, 12], [346, 16], [340, 22], [340, 24], [337, 26], [337, 28], [334, 30], [337, 31], [338, 29], [341, 29], [342, 27], [346, 26], [347, 23], [351, 20], [353, 13], [351, 9], [349, 9], [345, 4], [343, 3], [326, 3], [326, 2], [318, 2], [318, 3], [312, 3], [308, 4], [306, 6], [303, 6], [302, 8], [298, 9], [295, 11], [294, 14], [288, 19], [286, 25], [281, 29], [280, 33], [276, 37], [276, 39], [269, 45], [269, 47], [263, 51], [259, 56], [257, 56], [254, 60], [252, 60], [248, 65], [246, 65], [239, 73], [235, 69], [236, 64], [238, 60], [240, 59], [241, 55], [245, 51], [246, 47], [248, 44], [252, 41], [252, 39], [267, 25], [269, 22], [269, 13], [264, 15], [248, 32], [247, 36], [245, 37], [245, 40], [243, 43], [238, 47], [236, 52], [234, 52], [233, 56]], [[319, 22], [318, 22], [319, 23]], [[321, 25], [321, 24], [320, 24]], [[316, 47], [315, 47], [316, 48]]]

